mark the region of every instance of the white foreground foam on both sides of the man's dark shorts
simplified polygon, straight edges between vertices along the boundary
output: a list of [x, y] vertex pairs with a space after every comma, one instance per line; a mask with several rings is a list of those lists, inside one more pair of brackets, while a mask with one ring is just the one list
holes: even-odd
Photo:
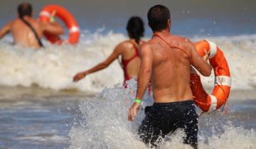
[[[97, 149], [130, 149], [147, 148], [137, 136], [137, 129], [144, 118], [144, 112], [139, 111], [134, 122], [127, 120], [129, 106], [132, 105], [135, 87], [125, 90], [121, 85], [114, 88], [105, 88], [93, 101], [85, 101], [80, 104], [80, 111], [84, 119], [80, 121], [80, 126], [71, 128], [70, 149], [72, 148], [97, 148]], [[143, 107], [151, 104], [151, 97], [144, 98]], [[255, 130], [235, 127], [232, 124], [221, 125], [214, 121], [213, 126], [220, 126], [223, 133], [210, 132], [206, 135], [205, 128], [200, 128], [207, 123], [203, 118], [199, 120], [199, 148], [256, 148]], [[209, 126], [207, 126], [209, 127]], [[202, 132], [203, 131], [203, 132]], [[182, 143], [183, 131], [179, 130], [174, 135], [166, 137], [166, 141], [161, 148], [191, 148]]]

